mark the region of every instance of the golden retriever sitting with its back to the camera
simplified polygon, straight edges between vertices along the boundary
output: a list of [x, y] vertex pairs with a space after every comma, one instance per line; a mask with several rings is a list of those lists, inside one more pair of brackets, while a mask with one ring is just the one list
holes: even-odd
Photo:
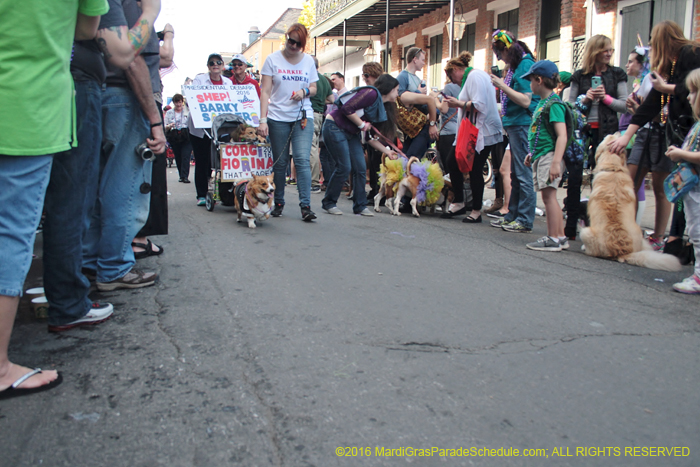
[[635, 222], [636, 198], [625, 165], [626, 154], [608, 149], [616, 137], [619, 133], [607, 136], [596, 150], [593, 191], [588, 199], [590, 227], [581, 230], [586, 254], [650, 269], [678, 271], [678, 258], [654, 251]]

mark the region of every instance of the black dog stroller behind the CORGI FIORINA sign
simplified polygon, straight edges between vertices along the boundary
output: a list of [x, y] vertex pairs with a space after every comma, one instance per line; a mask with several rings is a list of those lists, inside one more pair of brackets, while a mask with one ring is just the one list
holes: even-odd
[[[250, 147], [251, 143], [239, 143], [239, 142], [234, 142], [231, 141], [231, 135], [238, 129], [240, 125], [245, 125], [245, 120], [242, 117], [239, 117], [238, 115], [226, 113], [226, 114], [220, 114], [217, 115], [214, 118], [214, 121], [211, 126], [211, 131], [212, 131], [212, 145], [211, 145], [211, 166], [212, 169], [214, 170], [214, 176], [209, 180], [209, 189], [207, 191], [207, 196], [206, 196], [206, 207], [207, 211], [213, 211], [214, 206], [216, 206], [217, 202], [220, 202], [224, 206], [233, 206], [235, 205], [235, 195], [234, 195], [234, 188], [236, 184], [247, 180], [246, 178], [235, 178], [235, 179], [228, 179], [224, 180], [223, 175], [224, 171], [222, 171], [221, 167], [221, 161], [222, 161], [222, 155], [221, 155], [221, 150], [224, 148], [224, 146], [230, 147], [233, 146], [235, 151], [238, 151], [239, 148], [237, 148], [237, 145], [240, 146], [241, 151], [245, 151], [246, 147]], [[261, 151], [261, 146], [269, 146], [266, 144], [257, 144], [254, 143], [254, 146], [257, 146], [258, 149], [256, 150], [256, 154], [262, 155]], [[263, 157], [269, 157], [271, 158], [272, 153], [267, 152], [267, 156]], [[252, 156], [252, 155], [251, 155]], [[251, 157], [252, 159], [252, 157]], [[256, 157], [256, 160], [258, 157]], [[252, 165], [252, 162], [251, 162]], [[271, 165], [271, 163], [269, 163]], [[259, 169], [259, 167], [258, 167]], [[239, 172], [240, 173], [240, 172]], [[254, 172], [253, 172], [254, 173]], [[236, 177], [234, 175], [234, 177]]]

